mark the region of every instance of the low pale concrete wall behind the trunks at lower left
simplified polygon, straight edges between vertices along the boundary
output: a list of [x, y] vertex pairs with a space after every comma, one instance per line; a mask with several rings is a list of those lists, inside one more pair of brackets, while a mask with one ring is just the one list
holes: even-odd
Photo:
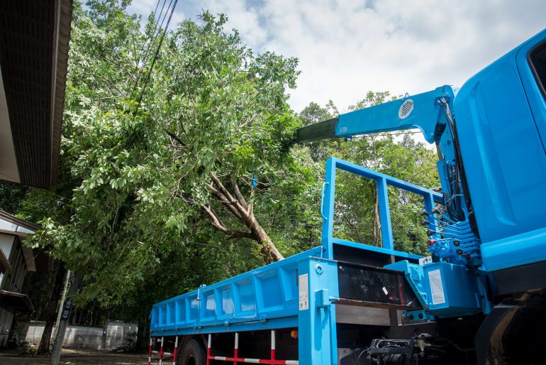
[[[29, 344], [38, 345], [44, 329], [43, 322], [19, 322], [19, 339], [25, 339]], [[99, 349], [103, 327], [85, 327], [69, 325], [65, 334], [63, 347], [79, 349]], [[106, 349], [115, 349], [136, 339], [138, 326], [135, 323], [110, 321], [106, 329]]]

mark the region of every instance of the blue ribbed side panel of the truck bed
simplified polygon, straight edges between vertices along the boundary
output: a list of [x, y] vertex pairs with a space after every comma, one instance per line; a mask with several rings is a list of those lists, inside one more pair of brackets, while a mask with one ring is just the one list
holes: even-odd
[[297, 327], [298, 263], [321, 247], [198, 290], [152, 308], [152, 336]]

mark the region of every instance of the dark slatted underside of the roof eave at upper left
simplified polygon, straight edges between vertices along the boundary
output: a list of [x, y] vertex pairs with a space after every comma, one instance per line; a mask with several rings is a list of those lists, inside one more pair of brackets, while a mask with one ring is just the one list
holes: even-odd
[[0, 0], [0, 65], [21, 183], [57, 176], [70, 0]]

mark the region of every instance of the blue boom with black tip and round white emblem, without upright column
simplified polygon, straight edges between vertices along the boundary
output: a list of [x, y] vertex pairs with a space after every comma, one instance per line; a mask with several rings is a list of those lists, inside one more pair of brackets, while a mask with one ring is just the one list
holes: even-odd
[[296, 132], [295, 143], [328, 138], [350, 138], [362, 134], [418, 128], [429, 143], [439, 141], [447, 125], [446, 110], [452, 110], [455, 92], [442, 86], [430, 92], [403, 97], [374, 107], [350, 111], [338, 117], [305, 126]]

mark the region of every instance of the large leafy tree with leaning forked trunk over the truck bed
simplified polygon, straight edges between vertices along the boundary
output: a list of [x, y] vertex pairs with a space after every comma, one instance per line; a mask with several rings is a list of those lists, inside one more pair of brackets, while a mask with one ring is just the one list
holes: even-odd
[[124, 6], [94, 1], [74, 11], [59, 179], [72, 185], [60, 207], [70, 217], [44, 219], [33, 239], [83, 274], [82, 303], [105, 307], [125, 302], [192, 242], [277, 261], [275, 229], [257, 214], [278, 209], [279, 187], [316, 185], [289, 153], [299, 121], [286, 88], [297, 60], [256, 55], [223, 31], [225, 16], [205, 12], [167, 33], [152, 67], [139, 51], [160, 43], [155, 18], [141, 31]]

